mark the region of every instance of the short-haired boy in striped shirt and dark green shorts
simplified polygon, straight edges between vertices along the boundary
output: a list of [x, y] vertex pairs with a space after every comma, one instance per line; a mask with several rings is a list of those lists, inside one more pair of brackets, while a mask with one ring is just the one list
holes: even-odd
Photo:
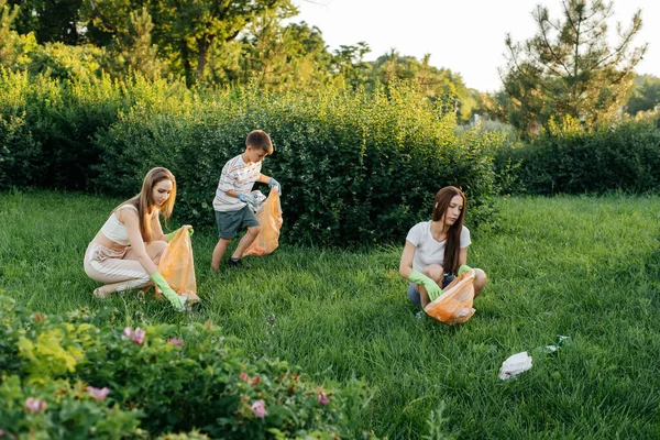
[[220, 175], [220, 183], [213, 199], [218, 237], [220, 240], [213, 250], [211, 270], [217, 272], [220, 262], [239, 230], [248, 228], [248, 233], [241, 239], [235, 251], [227, 262], [229, 267], [241, 266], [241, 255], [256, 235], [261, 227], [250, 206], [250, 191], [255, 182], [268, 184], [282, 196], [282, 188], [273, 177], [261, 174], [261, 164], [265, 156], [273, 154], [271, 136], [262, 130], [254, 130], [245, 140], [245, 152], [227, 162]]

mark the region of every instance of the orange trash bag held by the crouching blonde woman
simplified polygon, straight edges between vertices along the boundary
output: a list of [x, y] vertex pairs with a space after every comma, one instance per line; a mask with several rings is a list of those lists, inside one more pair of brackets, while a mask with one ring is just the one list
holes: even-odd
[[[195, 304], [199, 302], [199, 297], [197, 296], [189, 228], [189, 226], [180, 228], [169, 240], [167, 253], [158, 264], [158, 272], [174, 292], [188, 298], [187, 304]], [[158, 287], [156, 287], [156, 298], [165, 299]]]

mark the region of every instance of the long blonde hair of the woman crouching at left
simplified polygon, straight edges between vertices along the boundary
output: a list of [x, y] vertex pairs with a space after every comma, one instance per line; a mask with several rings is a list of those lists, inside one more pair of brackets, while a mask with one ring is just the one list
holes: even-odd
[[172, 216], [174, 200], [176, 199], [176, 179], [174, 178], [172, 172], [169, 172], [167, 168], [156, 167], [150, 169], [150, 172], [146, 173], [146, 176], [144, 176], [144, 182], [142, 183], [142, 189], [140, 190], [140, 194], [121, 204], [130, 204], [138, 208], [138, 217], [140, 218], [140, 233], [142, 234], [142, 240], [144, 240], [145, 243], [151, 243], [153, 241], [153, 231], [151, 227], [152, 212], [150, 211], [150, 208], [154, 206], [154, 186], [166, 179], [172, 182], [172, 193], [169, 193], [169, 198], [160, 207], [160, 213], [167, 222], [167, 219], [169, 219]]

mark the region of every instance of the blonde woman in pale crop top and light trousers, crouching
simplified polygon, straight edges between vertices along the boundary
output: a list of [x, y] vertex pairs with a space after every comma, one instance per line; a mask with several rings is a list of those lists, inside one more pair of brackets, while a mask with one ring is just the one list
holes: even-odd
[[165, 235], [158, 216], [169, 218], [175, 198], [174, 175], [166, 168], [153, 168], [140, 194], [114, 208], [85, 252], [87, 275], [107, 283], [94, 290], [94, 296], [108, 298], [116, 292], [155, 284], [176, 310], [184, 310], [185, 297], [169, 287], [157, 268], [176, 233]]

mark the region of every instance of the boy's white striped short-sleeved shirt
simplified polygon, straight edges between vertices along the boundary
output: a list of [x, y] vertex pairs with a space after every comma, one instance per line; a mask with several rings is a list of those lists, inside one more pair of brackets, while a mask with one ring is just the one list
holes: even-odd
[[245, 204], [235, 197], [230, 197], [227, 191], [230, 189], [237, 193], [250, 194], [254, 183], [258, 180], [261, 174], [261, 162], [255, 164], [246, 164], [243, 162], [243, 155], [231, 158], [224, 164], [218, 189], [216, 189], [216, 198], [213, 199], [213, 209], [216, 211], [238, 211]]

